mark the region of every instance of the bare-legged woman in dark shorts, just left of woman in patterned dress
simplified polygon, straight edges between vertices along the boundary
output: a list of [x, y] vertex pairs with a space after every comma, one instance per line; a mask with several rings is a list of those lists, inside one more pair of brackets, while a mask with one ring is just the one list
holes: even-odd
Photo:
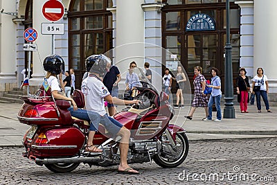
[[[173, 80], [176, 80], [176, 87], [177, 87], [177, 93], [176, 93], [176, 104], [174, 105], [175, 108], [182, 108], [184, 107], [184, 98], [183, 98], [183, 89], [185, 89], [185, 82], [186, 82], [186, 76], [185, 73], [182, 71], [181, 66], [177, 67], [177, 74], [175, 76], [176, 78], [173, 78]], [[179, 105], [179, 101], [181, 100], [181, 105]]]

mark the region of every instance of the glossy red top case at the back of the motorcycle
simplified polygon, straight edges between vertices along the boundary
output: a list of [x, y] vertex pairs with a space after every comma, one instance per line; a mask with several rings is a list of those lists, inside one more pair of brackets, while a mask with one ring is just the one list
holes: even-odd
[[[17, 118], [21, 123], [27, 125], [70, 125], [72, 118], [67, 108], [70, 107], [68, 101], [56, 100], [52, 102], [24, 103], [18, 112]], [[58, 115], [60, 114], [60, 116]]]

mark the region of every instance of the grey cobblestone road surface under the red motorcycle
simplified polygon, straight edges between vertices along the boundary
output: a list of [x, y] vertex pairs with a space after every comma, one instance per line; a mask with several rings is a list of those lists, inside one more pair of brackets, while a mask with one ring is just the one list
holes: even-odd
[[161, 168], [154, 162], [133, 164], [141, 175], [118, 174], [116, 166], [87, 165], [55, 174], [22, 158], [23, 151], [0, 148], [0, 184], [277, 184], [274, 138], [191, 141], [184, 164], [178, 168]]

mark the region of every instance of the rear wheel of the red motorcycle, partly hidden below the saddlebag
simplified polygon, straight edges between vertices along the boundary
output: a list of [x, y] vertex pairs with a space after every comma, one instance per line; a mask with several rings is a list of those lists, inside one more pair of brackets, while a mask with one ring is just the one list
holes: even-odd
[[80, 163], [45, 164], [46, 168], [53, 173], [69, 173], [75, 170], [79, 165]]

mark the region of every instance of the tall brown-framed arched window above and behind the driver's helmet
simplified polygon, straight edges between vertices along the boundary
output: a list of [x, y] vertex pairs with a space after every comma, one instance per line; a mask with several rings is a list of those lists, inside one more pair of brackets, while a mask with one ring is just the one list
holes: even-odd
[[112, 15], [110, 0], [73, 0], [69, 17], [69, 67], [75, 69], [80, 87], [84, 60], [93, 54], [112, 49]]

